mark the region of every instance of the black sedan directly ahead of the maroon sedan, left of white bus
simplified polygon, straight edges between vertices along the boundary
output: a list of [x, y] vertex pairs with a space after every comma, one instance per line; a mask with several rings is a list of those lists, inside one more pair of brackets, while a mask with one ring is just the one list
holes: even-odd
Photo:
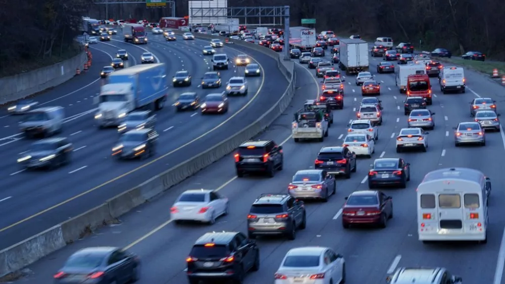
[[376, 159], [368, 172], [368, 188], [399, 185], [406, 188], [410, 181], [410, 163], [402, 158]]

